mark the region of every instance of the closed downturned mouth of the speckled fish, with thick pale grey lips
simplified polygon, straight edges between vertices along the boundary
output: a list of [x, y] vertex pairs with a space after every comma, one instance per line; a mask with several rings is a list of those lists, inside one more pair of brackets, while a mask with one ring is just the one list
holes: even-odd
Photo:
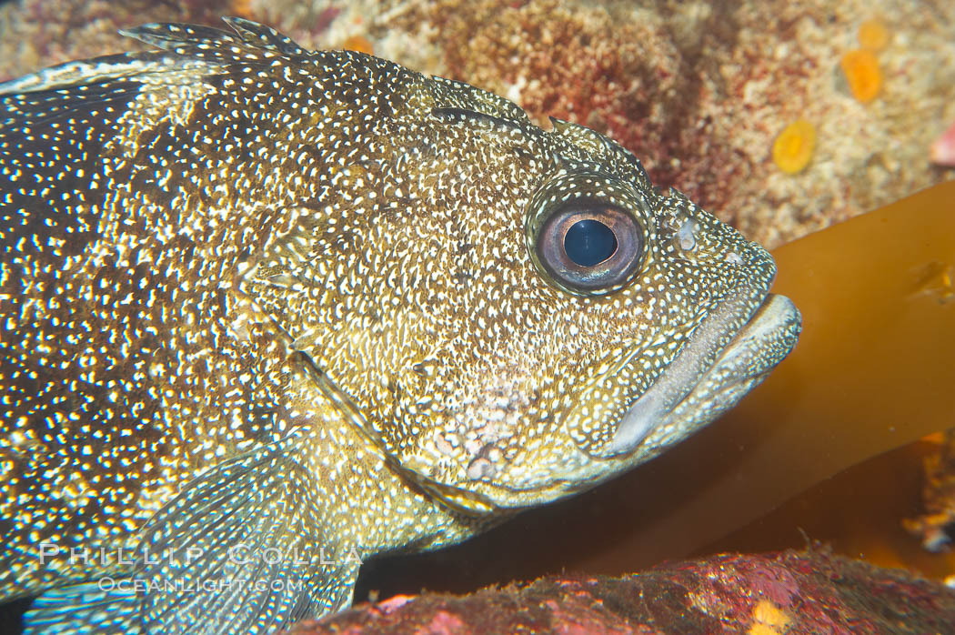
[[752, 289], [717, 307], [626, 411], [600, 454], [620, 457], [640, 447], [646, 460], [729, 410], [765, 379], [796, 346], [801, 318], [785, 296], [768, 293], [756, 302]]

